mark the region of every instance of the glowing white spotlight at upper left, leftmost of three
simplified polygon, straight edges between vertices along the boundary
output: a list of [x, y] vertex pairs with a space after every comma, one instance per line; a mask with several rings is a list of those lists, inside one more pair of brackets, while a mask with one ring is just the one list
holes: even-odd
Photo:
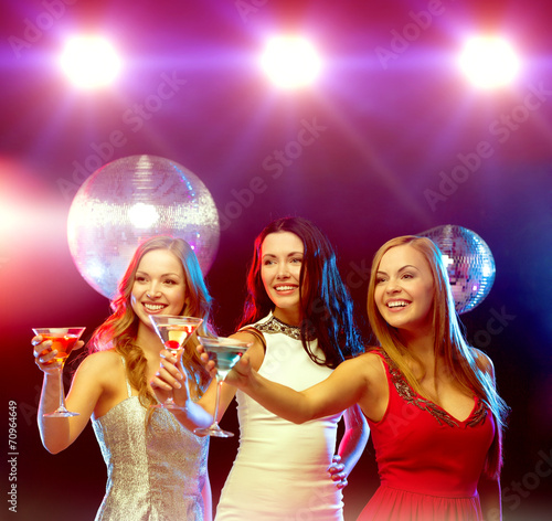
[[112, 44], [100, 36], [70, 40], [61, 56], [61, 66], [71, 82], [85, 89], [105, 87], [120, 70], [120, 60]]

